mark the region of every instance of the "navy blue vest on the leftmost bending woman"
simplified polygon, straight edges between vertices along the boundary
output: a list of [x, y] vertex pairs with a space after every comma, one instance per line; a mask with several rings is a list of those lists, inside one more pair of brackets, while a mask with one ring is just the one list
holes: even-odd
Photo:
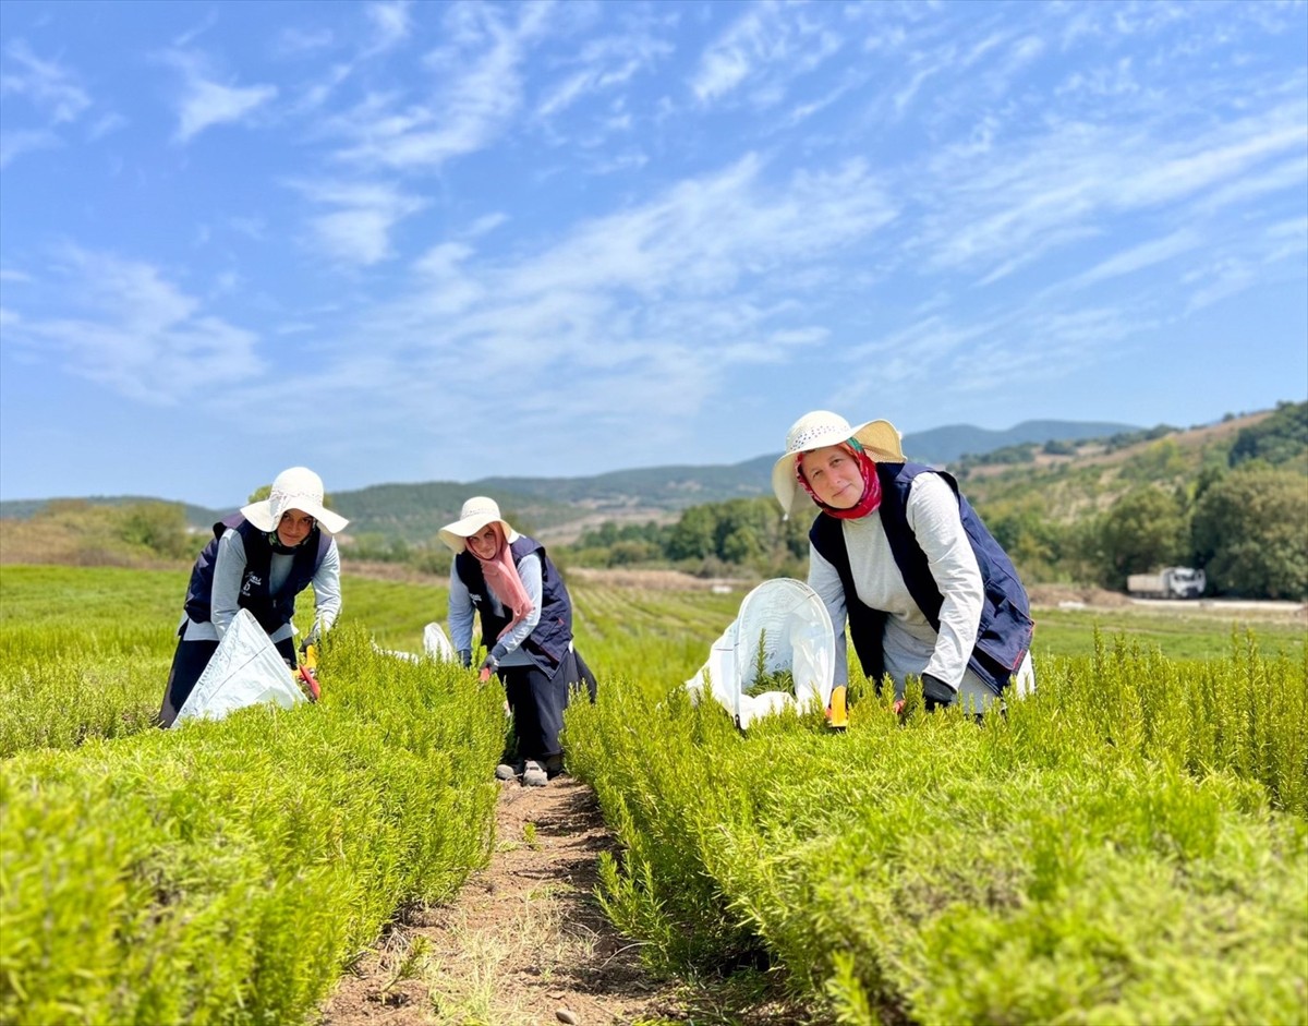
[[[246, 550], [245, 572], [241, 576], [241, 595], [237, 605], [247, 609], [269, 635], [296, 615], [296, 595], [303, 592], [314, 580], [318, 568], [327, 557], [331, 535], [314, 525], [313, 533], [296, 546], [290, 575], [276, 595], [268, 594], [268, 575], [272, 569], [272, 546], [268, 535], [260, 531], [239, 513], [213, 525], [211, 540], [191, 569], [191, 584], [186, 590], [186, 615], [196, 623], [208, 622], [213, 610], [213, 564], [218, 559], [218, 539], [228, 527], [241, 535]], [[314, 537], [317, 535], [317, 537]]]

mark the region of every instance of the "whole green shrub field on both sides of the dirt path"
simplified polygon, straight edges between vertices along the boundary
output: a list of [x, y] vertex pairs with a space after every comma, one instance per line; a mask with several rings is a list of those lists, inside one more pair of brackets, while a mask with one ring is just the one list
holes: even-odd
[[[0, 567], [3, 1022], [311, 1022], [488, 857], [498, 696], [375, 650], [421, 650], [442, 582], [347, 567], [319, 705], [160, 732], [186, 577]], [[854, 670], [846, 732], [742, 734], [675, 686], [743, 592], [572, 592], [569, 768], [657, 971], [763, 966], [815, 1021], [1308, 1021], [1301, 619], [1037, 609], [1006, 716], [901, 720]]]

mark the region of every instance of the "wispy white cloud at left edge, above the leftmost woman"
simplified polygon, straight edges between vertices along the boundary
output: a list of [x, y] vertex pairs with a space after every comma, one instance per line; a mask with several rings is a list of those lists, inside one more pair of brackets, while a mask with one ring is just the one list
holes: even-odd
[[263, 372], [252, 332], [207, 313], [152, 264], [68, 247], [43, 284], [67, 297], [67, 313], [24, 314], [7, 344], [128, 399], [171, 406]]

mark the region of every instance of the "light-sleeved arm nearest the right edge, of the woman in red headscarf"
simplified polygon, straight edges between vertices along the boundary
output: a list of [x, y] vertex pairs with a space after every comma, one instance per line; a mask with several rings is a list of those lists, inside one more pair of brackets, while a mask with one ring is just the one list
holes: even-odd
[[906, 514], [908, 526], [926, 554], [931, 577], [944, 599], [935, 650], [922, 673], [957, 687], [981, 624], [985, 601], [981, 568], [963, 529], [959, 499], [938, 474], [920, 474], [913, 479]]

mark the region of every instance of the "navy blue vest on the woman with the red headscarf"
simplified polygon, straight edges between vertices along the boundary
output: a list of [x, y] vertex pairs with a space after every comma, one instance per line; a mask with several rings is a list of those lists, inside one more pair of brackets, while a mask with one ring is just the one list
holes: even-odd
[[[918, 474], [938, 474], [943, 478], [959, 500], [959, 516], [963, 530], [967, 531], [977, 565], [981, 568], [981, 582], [985, 586], [985, 601], [981, 606], [981, 624], [977, 628], [976, 646], [968, 660], [968, 669], [980, 677], [997, 695], [1022, 665], [1031, 648], [1031, 635], [1035, 622], [1031, 619], [1031, 603], [1027, 592], [1018, 580], [1018, 571], [997, 540], [981, 522], [981, 517], [959, 492], [957, 482], [943, 470], [933, 470], [921, 463], [878, 463], [876, 476], [882, 482], [882, 526], [889, 542], [895, 564], [904, 576], [904, 584], [922, 615], [931, 626], [940, 629], [940, 606], [944, 599], [935, 586], [926, 554], [908, 526], [908, 492], [913, 478]], [[858, 601], [854, 577], [849, 567], [849, 551], [845, 548], [845, 533], [841, 521], [818, 514], [808, 539], [821, 556], [840, 575], [845, 588], [845, 606], [849, 611], [849, 635], [854, 652], [863, 666], [869, 681], [876, 682], [880, 690], [886, 662], [882, 656], [882, 631], [886, 628], [887, 614], [874, 610]]]

